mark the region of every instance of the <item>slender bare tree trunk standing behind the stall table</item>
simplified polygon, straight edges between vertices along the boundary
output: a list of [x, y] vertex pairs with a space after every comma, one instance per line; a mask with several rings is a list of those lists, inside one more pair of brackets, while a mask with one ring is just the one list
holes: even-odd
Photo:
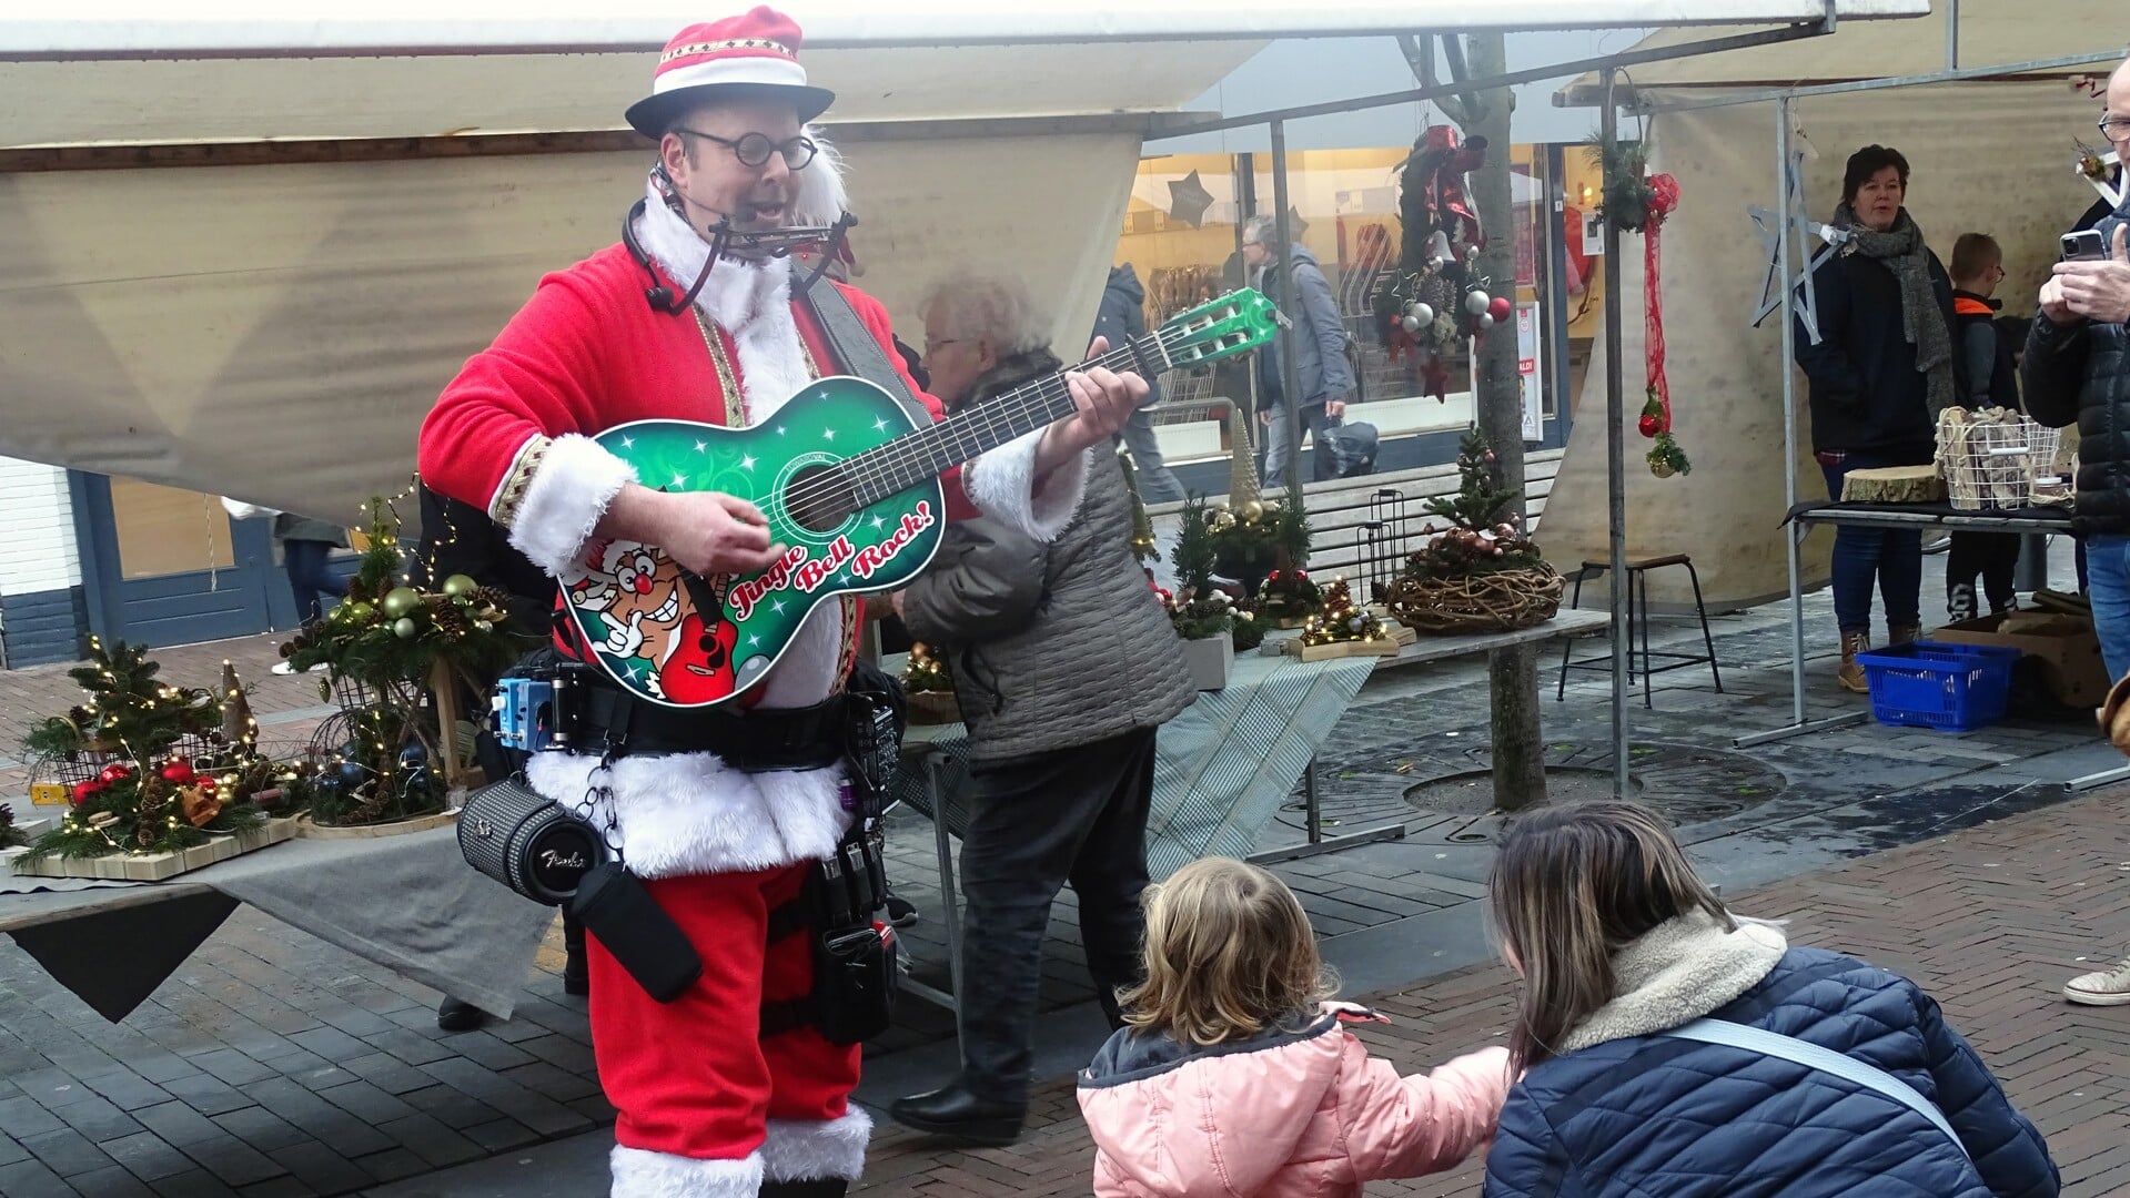
[[[1472, 79], [1497, 77], [1508, 70], [1504, 36], [1470, 34], [1465, 62]], [[1472, 198], [1487, 234], [1478, 255], [1478, 272], [1489, 279], [1489, 296], [1517, 300], [1517, 209], [1510, 198], [1508, 119], [1517, 98], [1508, 87], [1480, 91], [1478, 113], [1463, 117], [1463, 136], [1487, 138], [1487, 164], [1472, 174]], [[1517, 375], [1517, 319], [1487, 330], [1478, 338], [1472, 362], [1472, 385], [1478, 426], [1493, 443], [1497, 483], [1523, 489], [1523, 379]], [[1517, 502], [1517, 517], [1525, 517]], [[1487, 658], [1487, 681], [1493, 717], [1493, 804], [1502, 811], [1546, 800], [1546, 751], [1538, 726], [1538, 647], [1517, 645], [1495, 649]]]

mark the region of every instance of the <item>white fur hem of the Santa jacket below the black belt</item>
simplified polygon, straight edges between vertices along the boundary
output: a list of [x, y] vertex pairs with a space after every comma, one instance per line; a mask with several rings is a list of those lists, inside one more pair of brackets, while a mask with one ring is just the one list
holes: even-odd
[[[581, 813], [596, 766], [590, 753], [535, 753], [526, 779]], [[816, 862], [850, 828], [841, 768], [743, 775], [716, 753], [669, 753], [618, 758], [601, 781], [628, 870], [645, 879]], [[605, 802], [590, 815], [599, 828]]]

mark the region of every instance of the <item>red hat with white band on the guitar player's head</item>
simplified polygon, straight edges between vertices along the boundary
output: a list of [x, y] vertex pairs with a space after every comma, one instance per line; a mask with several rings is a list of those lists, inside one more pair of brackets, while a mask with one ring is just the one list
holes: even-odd
[[739, 17], [688, 26], [658, 55], [652, 94], [628, 106], [628, 123], [656, 138], [673, 117], [731, 94], [790, 100], [799, 119], [812, 121], [835, 102], [835, 91], [805, 81], [799, 40], [799, 21], [767, 4]]

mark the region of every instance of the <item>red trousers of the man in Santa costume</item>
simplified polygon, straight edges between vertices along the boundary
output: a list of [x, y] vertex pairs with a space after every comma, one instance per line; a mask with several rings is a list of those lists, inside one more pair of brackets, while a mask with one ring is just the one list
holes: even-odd
[[809, 864], [645, 881], [703, 958], [703, 977], [675, 1002], [637, 985], [596, 936], [592, 1051], [622, 1147], [694, 1160], [741, 1160], [763, 1147], [767, 1121], [841, 1119], [858, 1085], [858, 1045], [814, 1028], [760, 1038], [763, 1002], [805, 998], [812, 936], [767, 943], [769, 913], [805, 885]]

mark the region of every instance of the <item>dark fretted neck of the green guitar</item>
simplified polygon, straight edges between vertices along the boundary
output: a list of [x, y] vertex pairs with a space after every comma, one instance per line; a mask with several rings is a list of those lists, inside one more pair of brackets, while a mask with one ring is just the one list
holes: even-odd
[[[1152, 379], [1169, 368], [1169, 355], [1161, 345], [1161, 334], [1150, 332], [1127, 338], [1125, 345], [1086, 360], [1074, 370], [1091, 366], [1137, 370]], [[1071, 392], [1061, 370], [856, 453], [841, 462], [843, 479], [856, 506], [875, 504], [1071, 413]]]

